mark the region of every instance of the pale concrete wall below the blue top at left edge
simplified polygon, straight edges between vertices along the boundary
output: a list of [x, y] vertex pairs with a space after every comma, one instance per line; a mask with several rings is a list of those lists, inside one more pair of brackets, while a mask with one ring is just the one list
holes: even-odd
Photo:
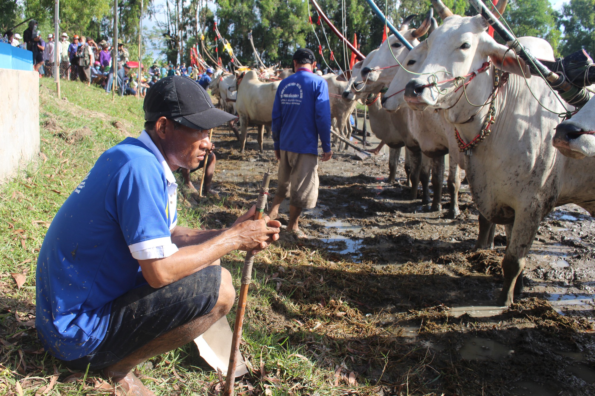
[[39, 154], [39, 73], [0, 68], [0, 182]]

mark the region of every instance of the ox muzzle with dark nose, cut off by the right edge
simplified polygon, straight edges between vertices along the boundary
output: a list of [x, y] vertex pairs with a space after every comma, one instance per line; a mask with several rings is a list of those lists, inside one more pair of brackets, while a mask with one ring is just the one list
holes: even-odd
[[570, 120], [556, 127], [552, 144], [570, 158], [595, 156], [595, 96]]

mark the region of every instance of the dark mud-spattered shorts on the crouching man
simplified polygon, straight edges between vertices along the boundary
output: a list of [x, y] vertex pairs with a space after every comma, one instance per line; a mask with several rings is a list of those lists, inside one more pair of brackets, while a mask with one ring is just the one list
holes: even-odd
[[73, 370], [99, 370], [162, 334], [211, 312], [219, 298], [221, 266], [209, 265], [162, 288], [137, 287], [112, 302], [107, 333], [92, 353], [64, 362]]

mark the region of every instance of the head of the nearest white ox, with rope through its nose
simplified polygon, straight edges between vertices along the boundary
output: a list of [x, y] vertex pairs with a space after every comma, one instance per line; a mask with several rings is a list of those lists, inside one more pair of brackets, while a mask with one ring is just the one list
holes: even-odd
[[[433, 2], [441, 4], [439, 0]], [[462, 94], [461, 90], [455, 94], [461, 81], [430, 84], [466, 76], [479, 70], [488, 59], [497, 68], [530, 77], [525, 63], [517, 58], [513, 51], [509, 51], [506, 46], [500, 45], [487, 34], [488, 23], [481, 15], [461, 17], [453, 15], [448, 8], [443, 7], [440, 16], [443, 17], [444, 23], [427, 39], [428, 55], [419, 68], [422, 76], [412, 79], [405, 87], [405, 100], [412, 109], [421, 110], [428, 106], [450, 108], [455, 105]], [[492, 78], [491, 70], [478, 74], [469, 88], [477, 85], [486, 86], [479, 81], [487, 83]], [[471, 96], [474, 97], [469, 96], [469, 100], [474, 102], [475, 99], [475, 103], [485, 101], [490, 93], [477, 89], [472, 91], [474, 95]]]

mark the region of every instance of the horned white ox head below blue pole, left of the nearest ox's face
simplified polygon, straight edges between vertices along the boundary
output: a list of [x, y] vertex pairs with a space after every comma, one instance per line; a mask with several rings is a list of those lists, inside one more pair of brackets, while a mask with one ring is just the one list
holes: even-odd
[[[423, 36], [432, 26], [434, 10], [430, 8], [424, 22], [417, 29], [409, 29], [409, 20], [406, 18], [399, 29], [399, 33], [405, 37], [412, 46], [419, 44], [418, 37]], [[412, 15], [413, 16], [413, 15]], [[399, 70], [399, 62], [403, 62], [409, 51], [405, 48], [394, 34], [391, 34], [378, 48], [378, 53], [360, 72], [361, 80], [366, 84], [367, 92], [380, 92], [384, 87], [389, 86], [394, 75]], [[397, 62], [398, 59], [398, 62]]]

